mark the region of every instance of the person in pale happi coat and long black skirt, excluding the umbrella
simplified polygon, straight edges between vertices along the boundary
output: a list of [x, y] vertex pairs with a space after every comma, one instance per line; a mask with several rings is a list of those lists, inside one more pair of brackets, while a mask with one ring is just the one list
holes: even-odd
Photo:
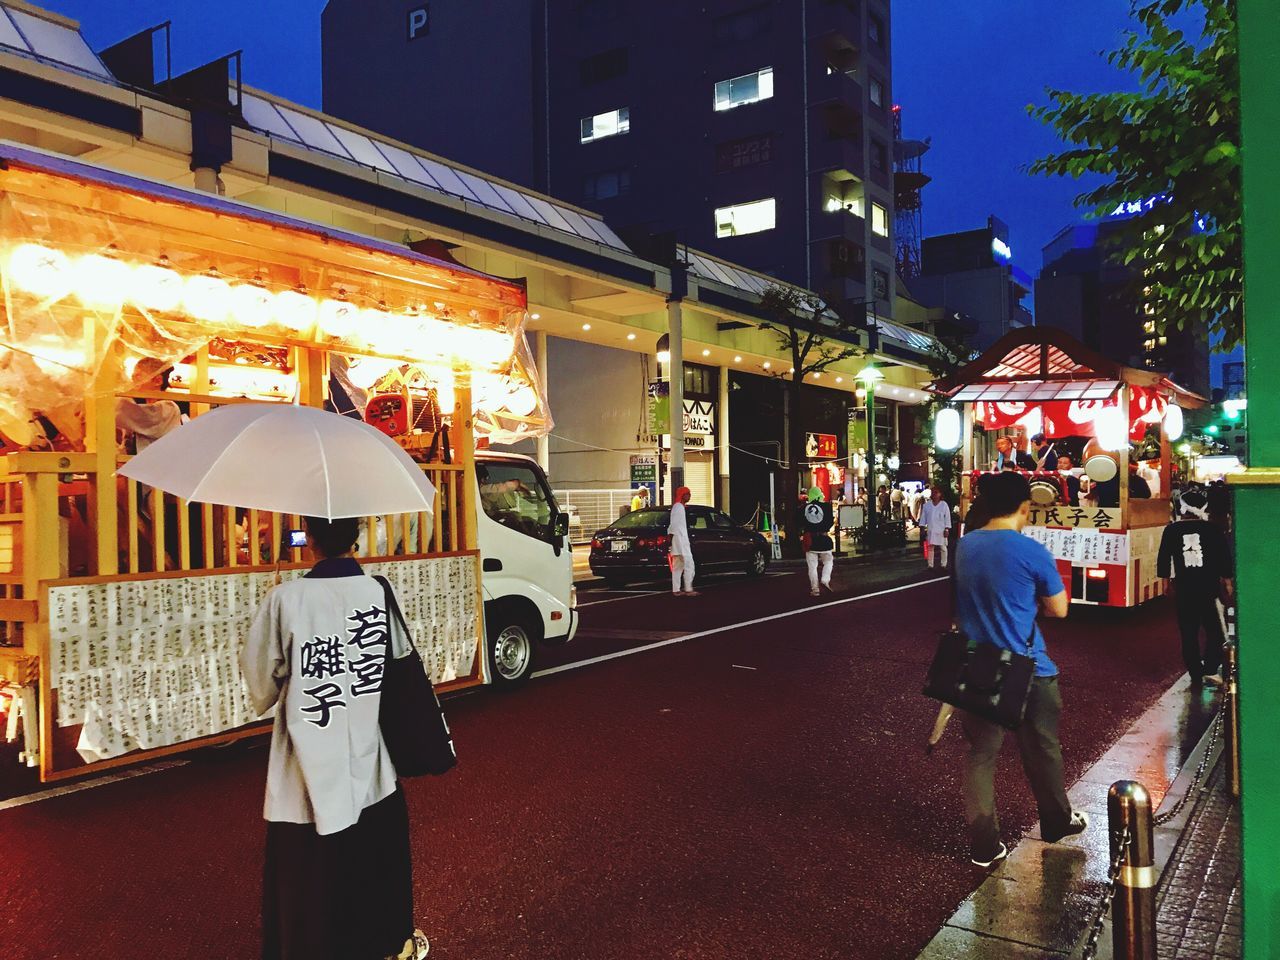
[[255, 709], [276, 708], [262, 957], [424, 957], [408, 810], [378, 726], [387, 657], [412, 646], [383, 585], [353, 557], [358, 521], [305, 526], [320, 559], [266, 594], [241, 653]]

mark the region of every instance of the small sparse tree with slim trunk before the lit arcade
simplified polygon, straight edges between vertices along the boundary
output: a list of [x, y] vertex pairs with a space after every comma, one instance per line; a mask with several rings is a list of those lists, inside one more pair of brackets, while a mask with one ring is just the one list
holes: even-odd
[[[820, 374], [832, 364], [861, 356], [864, 351], [852, 346], [861, 324], [838, 316], [818, 297], [796, 287], [772, 285], [760, 297], [760, 306], [768, 317], [760, 324], [771, 332], [778, 348], [791, 358], [787, 371], [773, 371], [783, 381], [782, 429], [787, 438], [787, 461], [782, 470], [781, 513], [790, 521], [800, 503], [800, 477], [808, 470], [804, 457], [805, 429], [800, 412], [800, 398], [805, 378]], [[794, 525], [787, 522], [787, 527]], [[787, 556], [800, 556], [800, 538], [788, 536], [783, 544]]]

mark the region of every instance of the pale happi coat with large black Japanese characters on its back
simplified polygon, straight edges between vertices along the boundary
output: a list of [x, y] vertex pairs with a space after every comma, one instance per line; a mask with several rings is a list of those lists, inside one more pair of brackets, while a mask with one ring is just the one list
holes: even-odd
[[257, 710], [278, 705], [262, 815], [337, 833], [396, 790], [378, 728], [388, 621], [392, 652], [410, 640], [388, 618], [383, 588], [351, 558], [268, 593], [241, 652]]

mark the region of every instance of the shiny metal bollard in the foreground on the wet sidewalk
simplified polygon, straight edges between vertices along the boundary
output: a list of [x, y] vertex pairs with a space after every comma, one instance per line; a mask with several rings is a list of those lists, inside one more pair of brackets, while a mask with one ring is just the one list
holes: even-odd
[[1119, 780], [1107, 791], [1111, 863], [1120, 858], [1111, 908], [1111, 950], [1115, 960], [1156, 960], [1156, 845], [1151, 795], [1133, 780]]

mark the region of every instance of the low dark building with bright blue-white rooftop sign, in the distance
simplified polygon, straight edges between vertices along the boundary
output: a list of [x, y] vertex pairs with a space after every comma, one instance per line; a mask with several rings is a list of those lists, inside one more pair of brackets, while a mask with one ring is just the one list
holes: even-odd
[[1023, 298], [1030, 278], [1014, 265], [1009, 227], [995, 216], [977, 230], [928, 237], [922, 244], [920, 275], [910, 282], [920, 303], [966, 317], [968, 346], [986, 349], [1018, 326], [1029, 326]]

